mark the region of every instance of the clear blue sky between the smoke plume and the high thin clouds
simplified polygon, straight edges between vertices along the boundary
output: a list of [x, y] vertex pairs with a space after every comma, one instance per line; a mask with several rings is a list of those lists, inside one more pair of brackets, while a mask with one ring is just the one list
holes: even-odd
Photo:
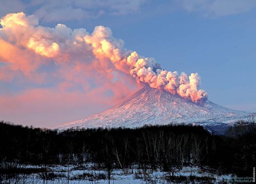
[[211, 101], [256, 112], [256, 9], [225, 16], [204, 13], [207, 10], [187, 11], [175, 1], [151, 1], [138, 12], [63, 23], [89, 32], [97, 25], [110, 27], [126, 48], [154, 57], [165, 70], [198, 72]]

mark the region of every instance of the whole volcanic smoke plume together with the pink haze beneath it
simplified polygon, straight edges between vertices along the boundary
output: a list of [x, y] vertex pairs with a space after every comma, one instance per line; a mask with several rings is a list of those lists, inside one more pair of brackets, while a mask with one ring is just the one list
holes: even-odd
[[0, 80], [31, 83], [0, 94], [3, 114], [111, 106], [144, 83], [195, 103], [207, 98], [197, 73], [163, 70], [154, 58], [126, 49], [110, 28], [97, 26], [90, 34], [63, 24], [43, 27], [23, 12], [7, 14], [0, 24]]

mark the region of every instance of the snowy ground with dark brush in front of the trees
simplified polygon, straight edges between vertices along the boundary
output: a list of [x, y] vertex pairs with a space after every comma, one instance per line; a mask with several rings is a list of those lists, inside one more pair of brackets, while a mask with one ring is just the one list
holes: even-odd
[[[9, 179], [6, 183], [24, 184], [108, 184], [107, 171], [87, 164], [81, 166], [26, 166], [42, 169], [43, 172], [22, 174]], [[45, 170], [43, 170], [45, 169]], [[229, 183], [233, 175], [218, 175], [217, 171], [199, 167], [183, 167], [174, 176], [151, 169], [114, 169], [111, 171], [110, 184], [170, 184], [170, 183]], [[2, 181], [3, 182], [3, 181]]]

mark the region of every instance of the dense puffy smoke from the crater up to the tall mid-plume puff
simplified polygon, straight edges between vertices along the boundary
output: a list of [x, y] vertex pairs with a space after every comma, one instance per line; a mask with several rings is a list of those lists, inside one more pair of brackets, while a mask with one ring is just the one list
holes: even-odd
[[176, 71], [161, 69], [154, 58], [127, 51], [123, 47], [123, 41], [115, 39], [108, 27], [95, 27], [93, 33], [86, 35], [84, 40], [91, 44], [96, 58], [109, 59], [118, 70], [130, 73], [139, 81], [149, 84], [151, 88], [164, 89], [195, 103], [202, 103], [207, 98], [207, 93], [198, 89], [201, 84], [198, 73], [187, 77], [184, 72], [179, 75]]

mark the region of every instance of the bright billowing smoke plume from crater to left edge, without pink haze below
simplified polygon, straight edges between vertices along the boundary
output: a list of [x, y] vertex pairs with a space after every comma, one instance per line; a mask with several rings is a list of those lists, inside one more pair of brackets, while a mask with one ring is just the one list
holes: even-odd
[[48, 28], [39, 26], [38, 22], [36, 17], [26, 16], [23, 12], [7, 14], [0, 21], [0, 40], [58, 62], [68, 62], [78, 52], [91, 51], [102, 66], [111, 61], [117, 70], [149, 84], [151, 88], [166, 90], [195, 103], [203, 103], [207, 98], [207, 93], [199, 89], [201, 80], [197, 73], [188, 77], [183, 72], [163, 70], [154, 58], [124, 48], [123, 40], [114, 38], [108, 27], [97, 26], [89, 34], [85, 29], [72, 30], [62, 24]]

